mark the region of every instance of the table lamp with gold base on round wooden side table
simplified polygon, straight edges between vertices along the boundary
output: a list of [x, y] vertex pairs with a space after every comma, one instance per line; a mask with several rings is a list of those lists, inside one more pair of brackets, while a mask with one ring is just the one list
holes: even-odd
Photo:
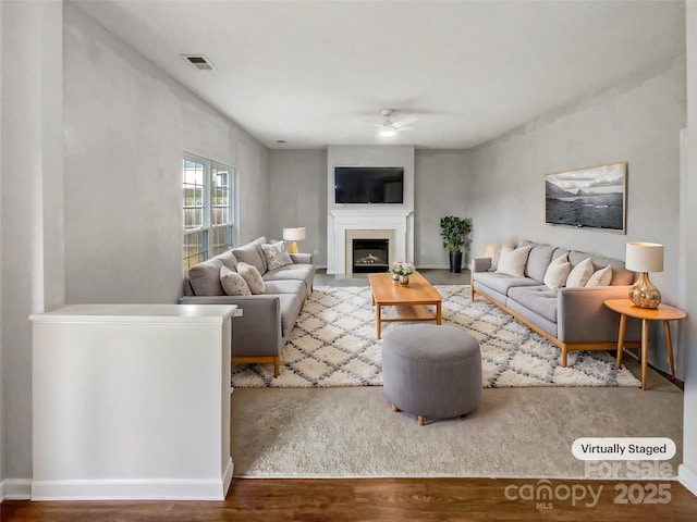
[[627, 270], [639, 272], [639, 279], [629, 289], [629, 299], [638, 308], [658, 308], [661, 293], [649, 279], [649, 272], [663, 272], [663, 245], [627, 243]]

